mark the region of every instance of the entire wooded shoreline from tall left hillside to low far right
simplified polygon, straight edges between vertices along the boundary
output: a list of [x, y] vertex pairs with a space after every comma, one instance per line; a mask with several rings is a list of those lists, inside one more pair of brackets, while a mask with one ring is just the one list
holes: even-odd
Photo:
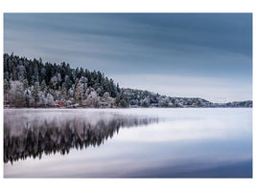
[[100, 71], [70, 68], [39, 59], [4, 54], [6, 107], [252, 107], [252, 100], [212, 103], [195, 97], [161, 96], [120, 88]]

